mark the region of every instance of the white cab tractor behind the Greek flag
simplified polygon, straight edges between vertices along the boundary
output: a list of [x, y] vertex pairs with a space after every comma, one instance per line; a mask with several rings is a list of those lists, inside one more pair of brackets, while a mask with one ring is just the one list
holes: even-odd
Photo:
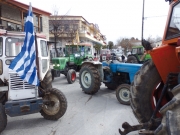
[[49, 70], [49, 52], [46, 37], [36, 34], [40, 85], [30, 85], [9, 69], [15, 56], [21, 51], [25, 33], [0, 29], [0, 133], [10, 117], [40, 112], [47, 120], [58, 120], [67, 109], [65, 95], [52, 88]]

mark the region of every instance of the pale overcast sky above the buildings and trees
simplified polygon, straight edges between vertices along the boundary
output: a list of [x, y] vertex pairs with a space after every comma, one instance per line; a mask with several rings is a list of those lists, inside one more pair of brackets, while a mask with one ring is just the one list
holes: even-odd
[[[141, 39], [143, 0], [17, 0], [33, 7], [59, 15], [83, 16], [88, 22], [98, 24], [107, 42], [122, 37]], [[163, 36], [169, 3], [165, 0], [145, 0], [144, 37]]]

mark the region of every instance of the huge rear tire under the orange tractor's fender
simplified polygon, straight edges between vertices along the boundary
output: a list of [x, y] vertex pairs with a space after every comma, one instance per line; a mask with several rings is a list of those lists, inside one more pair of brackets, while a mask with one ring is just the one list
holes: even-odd
[[144, 63], [134, 76], [134, 82], [130, 88], [130, 105], [140, 123], [148, 122], [152, 116], [153, 92], [158, 89], [160, 82], [160, 75], [152, 60]]

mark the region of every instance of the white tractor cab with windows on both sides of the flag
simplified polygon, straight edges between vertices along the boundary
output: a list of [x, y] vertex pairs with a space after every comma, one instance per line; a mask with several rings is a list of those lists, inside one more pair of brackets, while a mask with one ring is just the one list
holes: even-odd
[[[0, 29], [0, 84], [7, 85], [9, 65], [19, 54], [24, 44], [24, 32], [12, 32]], [[37, 49], [39, 59], [39, 79], [43, 80], [49, 70], [49, 53], [46, 37], [37, 34]]]

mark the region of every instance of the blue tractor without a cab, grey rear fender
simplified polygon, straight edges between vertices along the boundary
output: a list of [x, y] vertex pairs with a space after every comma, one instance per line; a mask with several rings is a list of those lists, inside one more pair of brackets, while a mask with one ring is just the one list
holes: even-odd
[[116, 90], [116, 97], [122, 104], [130, 104], [130, 84], [142, 64], [120, 63], [110, 61], [85, 61], [79, 72], [79, 83], [86, 94], [95, 94], [101, 82], [108, 89]]

